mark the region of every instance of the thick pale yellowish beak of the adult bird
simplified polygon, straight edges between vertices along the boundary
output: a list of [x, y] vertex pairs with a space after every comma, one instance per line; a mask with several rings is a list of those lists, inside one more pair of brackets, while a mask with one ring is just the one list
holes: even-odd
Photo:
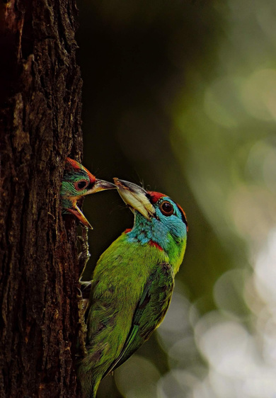
[[154, 217], [154, 206], [149, 201], [148, 193], [141, 186], [119, 180], [119, 178], [113, 178], [113, 180], [120, 197], [132, 210], [137, 210], [147, 220], [151, 220], [151, 217]]

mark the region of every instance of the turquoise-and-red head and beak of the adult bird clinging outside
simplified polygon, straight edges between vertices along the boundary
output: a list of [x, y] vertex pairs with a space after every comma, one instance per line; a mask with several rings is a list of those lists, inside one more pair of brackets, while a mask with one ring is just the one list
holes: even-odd
[[151, 244], [166, 251], [177, 272], [183, 260], [188, 224], [184, 210], [163, 193], [146, 191], [128, 181], [114, 178], [117, 190], [134, 213], [128, 239]]

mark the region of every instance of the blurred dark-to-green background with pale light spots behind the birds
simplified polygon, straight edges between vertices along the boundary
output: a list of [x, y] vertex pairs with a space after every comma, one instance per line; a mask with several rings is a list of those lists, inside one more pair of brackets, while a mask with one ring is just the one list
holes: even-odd
[[[190, 228], [165, 321], [98, 397], [275, 398], [275, 0], [78, 5], [84, 165]], [[84, 212], [92, 269], [133, 217], [115, 191]]]

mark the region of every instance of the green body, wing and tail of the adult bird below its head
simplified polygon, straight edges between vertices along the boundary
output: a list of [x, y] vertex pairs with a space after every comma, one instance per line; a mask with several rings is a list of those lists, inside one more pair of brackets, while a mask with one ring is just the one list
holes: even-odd
[[[145, 250], [121, 236], [105, 251], [93, 274], [86, 312], [87, 355], [78, 375], [85, 398], [125, 362], [163, 320], [173, 291], [173, 270], [163, 251]], [[137, 261], [138, 258], [138, 261]]]

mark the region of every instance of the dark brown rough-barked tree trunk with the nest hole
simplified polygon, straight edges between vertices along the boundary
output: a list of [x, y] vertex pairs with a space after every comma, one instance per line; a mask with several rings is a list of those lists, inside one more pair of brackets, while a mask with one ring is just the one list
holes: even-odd
[[76, 229], [64, 159], [80, 159], [74, 0], [0, 0], [0, 397], [77, 397]]

